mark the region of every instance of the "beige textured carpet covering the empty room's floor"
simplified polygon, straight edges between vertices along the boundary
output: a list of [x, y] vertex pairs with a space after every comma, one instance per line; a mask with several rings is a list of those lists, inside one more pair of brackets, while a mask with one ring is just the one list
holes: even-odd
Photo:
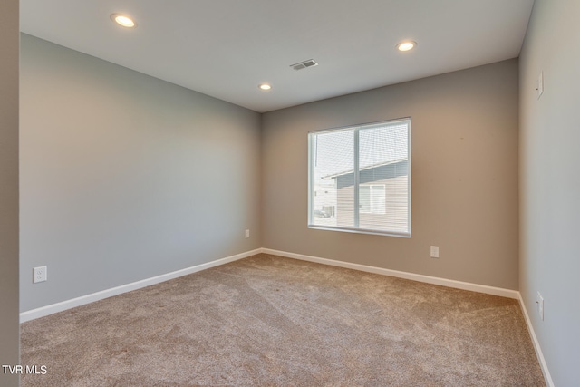
[[22, 386], [544, 386], [516, 300], [258, 255], [22, 324]]

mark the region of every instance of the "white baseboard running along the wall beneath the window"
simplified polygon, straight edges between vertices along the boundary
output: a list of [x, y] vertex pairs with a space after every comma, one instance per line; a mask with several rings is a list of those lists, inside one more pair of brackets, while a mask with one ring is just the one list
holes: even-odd
[[514, 298], [516, 300], [519, 299], [519, 292], [517, 290], [504, 289], [501, 287], [470, 284], [469, 282], [455, 281], [453, 279], [440, 278], [436, 276], [423, 276], [420, 274], [384, 269], [382, 267], [365, 266], [353, 264], [350, 262], [334, 261], [333, 259], [320, 258], [318, 256], [304, 256], [302, 254], [288, 253], [285, 251], [272, 250], [270, 248], [262, 248], [262, 252], [266, 254], [272, 254], [275, 256], [286, 256], [288, 258], [295, 258], [303, 261], [315, 262], [318, 264], [339, 266], [353, 270], [364, 271], [368, 273], [380, 274], [382, 276], [396, 276], [399, 278], [411, 279], [412, 281], [425, 282], [427, 284], [454, 287], [456, 289], [470, 290], [472, 292], [485, 293], [488, 295], [500, 295], [502, 297]]

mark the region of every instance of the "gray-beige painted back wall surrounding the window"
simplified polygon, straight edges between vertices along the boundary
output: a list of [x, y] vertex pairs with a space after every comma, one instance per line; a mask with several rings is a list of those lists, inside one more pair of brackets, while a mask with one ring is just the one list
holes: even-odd
[[[514, 59], [264, 114], [264, 247], [517, 289], [517, 66]], [[308, 131], [407, 116], [412, 237], [308, 229]]]

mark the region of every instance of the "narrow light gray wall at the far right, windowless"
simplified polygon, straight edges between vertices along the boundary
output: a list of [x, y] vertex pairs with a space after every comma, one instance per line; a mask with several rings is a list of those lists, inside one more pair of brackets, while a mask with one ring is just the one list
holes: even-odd
[[520, 292], [556, 386], [580, 380], [578, 15], [577, 0], [536, 0], [520, 59]]

